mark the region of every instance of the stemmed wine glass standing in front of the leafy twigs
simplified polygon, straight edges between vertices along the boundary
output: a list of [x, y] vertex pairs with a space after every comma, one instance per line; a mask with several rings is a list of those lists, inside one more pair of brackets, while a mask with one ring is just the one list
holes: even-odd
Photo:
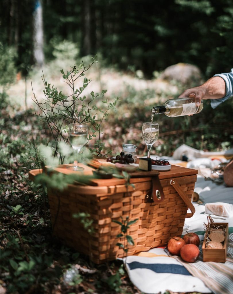
[[71, 169], [73, 171], [84, 170], [83, 167], [78, 166], [78, 154], [87, 141], [87, 135], [87, 125], [81, 123], [71, 123], [69, 125], [69, 140], [74, 150], [75, 160], [73, 166], [69, 166], [68, 169]]

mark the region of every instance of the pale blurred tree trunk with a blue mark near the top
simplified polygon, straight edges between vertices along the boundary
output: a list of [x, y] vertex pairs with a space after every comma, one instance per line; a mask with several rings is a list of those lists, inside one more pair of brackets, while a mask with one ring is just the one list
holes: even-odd
[[43, 19], [41, 0], [36, 0], [33, 12], [33, 55], [36, 65], [39, 67], [43, 66]]

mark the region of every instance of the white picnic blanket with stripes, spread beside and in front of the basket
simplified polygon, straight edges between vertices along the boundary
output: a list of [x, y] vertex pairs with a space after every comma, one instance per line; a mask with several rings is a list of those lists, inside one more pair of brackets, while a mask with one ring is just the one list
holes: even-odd
[[[183, 146], [182, 150], [184, 149], [185, 146]], [[217, 155], [217, 153], [214, 154], [214, 156]], [[169, 160], [172, 164], [179, 165], [180, 163], [178, 159], [170, 158]], [[224, 162], [224, 158], [221, 158], [220, 161]], [[187, 163], [187, 167], [212, 168], [216, 163], [208, 157], [194, 158]], [[195, 263], [183, 262], [180, 257], [170, 257], [163, 247], [128, 256], [126, 269], [129, 278], [143, 293], [164, 293], [166, 290], [214, 294], [233, 293], [233, 187], [226, 187], [224, 183], [217, 184], [210, 180], [206, 181], [201, 169], [199, 171], [194, 191], [199, 194], [203, 204], [193, 203], [196, 212], [192, 218], [185, 220], [182, 234], [187, 233], [187, 230], [195, 232], [202, 241], [204, 239], [203, 223], [207, 223], [204, 204], [214, 202], [229, 203], [231, 206], [229, 218], [214, 218], [215, 222], [229, 223], [227, 261], [225, 263], [203, 262], [202, 242], [200, 242], [199, 246], [200, 255]]]

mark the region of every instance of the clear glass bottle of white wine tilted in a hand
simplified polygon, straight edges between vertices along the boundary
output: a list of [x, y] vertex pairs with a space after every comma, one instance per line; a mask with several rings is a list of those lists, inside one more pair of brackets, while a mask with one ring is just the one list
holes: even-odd
[[182, 97], [167, 100], [162, 106], [155, 106], [151, 108], [151, 113], [152, 116], [154, 114], [165, 113], [166, 116], [175, 117], [199, 113], [202, 109], [202, 101], [200, 106], [196, 106], [194, 97]]

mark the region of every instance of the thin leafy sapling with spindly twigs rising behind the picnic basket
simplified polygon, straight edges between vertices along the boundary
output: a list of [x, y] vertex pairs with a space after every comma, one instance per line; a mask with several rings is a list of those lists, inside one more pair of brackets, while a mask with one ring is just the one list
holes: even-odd
[[[101, 93], [94, 93], [91, 91], [90, 96], [81, 96], [91, 82], [87, 77], [83, 78], [81, 86], [76, 87], [78, 78], [85, 76], [86, 71], [90, 69], [95, 62], [97, 62], [96, 56], [95, 58], [92, 58], [92, 62], [88, 67], [85, 67], [84, 64], [81, 63], [78, 67], [74, 65], [71, 67], [71, 70], [66, 73], [63, 69], [61, 70], [63, 81], [71, 89], [71, 94], [68, 96], [59, 91], [54, 85], [51, 85], [51, 83], [48, 83], [45, 80], [44, 75], [42, 76], [42, 81], [44, 83], [43, 93], [45, 96], [43, 102], [39, 102], [33, 92], [33, 101], [37, 104], [40, 110], [39, 113], [35, 112], [34, 115], [46, 123], [46, 128], [51, 131], [55, 141], [53, 156], [59, 154], [58, 145], [61, 141], [65, 143], [68, 142], [67, 126], [69, 123], [90, 124], [87, 143], [91, 139], [96, 138], [94, 140], [94, 148], [90, 148], [91, 153], [95, 153], [97, 156], [106, 155], [101, 154], [104, 146], [103, 140], [101, 139], [101, 135], [103, 134], [101, 131], [102, 122], [108, 116], [108, 111], [110, 109], [116, 110], [115, 106], [119, 98], [117, 97], [112, 102], [108, 102], [106, 99], [105, 101], [102, 101], [101, 106], [98, 106], [97, 98], [103, 98], [107, 90], [102, 90]], [[60, 158], [60, 163], [63, 163], [63, 157]]]

